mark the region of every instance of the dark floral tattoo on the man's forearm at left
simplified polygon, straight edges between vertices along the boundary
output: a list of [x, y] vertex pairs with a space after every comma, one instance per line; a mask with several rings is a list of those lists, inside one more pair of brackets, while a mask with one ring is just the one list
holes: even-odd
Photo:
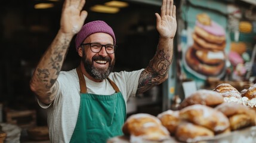
[[66, 57], [69, 41], [65, 39], [64, 42], [60, 42], [57, 39], [51, 46], [51, 49], [48, 49], [39, 63], [35, 73], [37, 81], [42, 85], [37, 92], [41, 95], [47, 95], [48, 101], [53, 100], [50, 96], [57, 91], [58, 84], [54, 83]]

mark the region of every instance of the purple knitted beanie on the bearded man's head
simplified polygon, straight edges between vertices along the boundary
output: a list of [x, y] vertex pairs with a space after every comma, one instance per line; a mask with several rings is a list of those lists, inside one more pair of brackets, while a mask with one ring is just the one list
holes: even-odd
[[116, 38], [115, 38], [115, 33], [113, 32], [113, 29], [107, 25], [104, 21], [101, 20], [96, 20], [96, 21], [91, 21], [90, 23], [84, 24], [82, 26], [81, 30], [78, 32], [76, 35], [75, 43], [76, 43], [76, 52], [78, 52], [78, 48], [81, 45], [84, 40], [92, 35], [93, 33], [107, 33], [110, 36], [112, 36], [114, 44], [116, 44]]

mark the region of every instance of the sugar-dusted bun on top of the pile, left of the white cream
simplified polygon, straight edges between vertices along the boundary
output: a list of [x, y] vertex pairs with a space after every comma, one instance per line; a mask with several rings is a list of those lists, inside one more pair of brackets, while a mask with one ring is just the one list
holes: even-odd
[[220, 93], [206, 89], [199, 89], [181, 102], [180, 109], [194, 104], [215, 107], [223, 102], [223, 96], [221, 96]]

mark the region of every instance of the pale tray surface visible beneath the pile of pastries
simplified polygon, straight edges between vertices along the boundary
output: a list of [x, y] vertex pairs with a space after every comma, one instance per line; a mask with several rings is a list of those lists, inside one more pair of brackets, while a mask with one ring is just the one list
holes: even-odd
[[[199, 142], [218, 142], [218, 143], [240, 143], [240, 142], [246, 142], [246, 143], [255, 143], [256, 141], [256, 126], [252, 126], [249, 128], [245, 128], [242, 130], [235, 130], [230, 133], [223, 133], [220, 135], [214, 136], [214, 138], [208, 138], [203, 139], [203, 141]], [[143, 143], [153, 143], [152, 141], [143, 141]], [[167, 142], [178, 142], [174, 138], [162, 141], [161, 143], [167, 143]], [[116, 136], [114, 138], [110, 138], [107, 143], [129, 143], [129, 136]], [[154, 142], [158, 143], [158, 142]]]

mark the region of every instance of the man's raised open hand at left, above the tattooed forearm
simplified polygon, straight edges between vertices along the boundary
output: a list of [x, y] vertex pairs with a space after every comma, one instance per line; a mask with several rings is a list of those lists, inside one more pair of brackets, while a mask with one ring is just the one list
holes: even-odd
[[70, 36], [79, 32], [87, 18], [87, 11], [81, 11], [85, 0], [65, 0], [63, 4], [60, 32]]

